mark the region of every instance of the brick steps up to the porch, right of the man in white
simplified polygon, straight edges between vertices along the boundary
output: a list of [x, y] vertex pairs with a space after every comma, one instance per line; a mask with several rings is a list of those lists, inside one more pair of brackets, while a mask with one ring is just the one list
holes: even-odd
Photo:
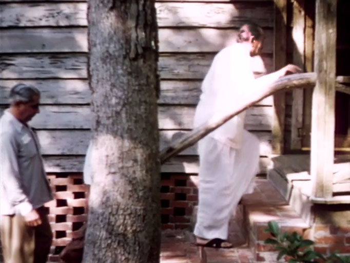
[[254, 262], [277, 262], [277, 251], [264, 244], [264, 240], [270, 237], [269, 233], [264, 232], [268, 221], [278, 222], [282, 232], [296, 231], [304, 238], [309, 238], [309, 224], [268, 180], [257, 179], [254, 193], [245, 195], [241, 203], [246, 218], [247, 242], [254, 255]]

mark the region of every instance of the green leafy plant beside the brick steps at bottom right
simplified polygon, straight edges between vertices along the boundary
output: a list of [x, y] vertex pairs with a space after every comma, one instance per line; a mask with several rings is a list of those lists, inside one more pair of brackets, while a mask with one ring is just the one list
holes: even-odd
[[336, 253], [330, 254], [328, 257], [323, 256], [313, 250], [314, 241], [304, 239], [297, 232], [291, 234], [281, 233], [278, 223], [275, 221], [269, 221], [265, 232], [269, 232], [272, 238], [267, 238], [265, 244], [270, 244], [278, 251], [277, 260], [280, 260], [283, 256], [287, 256], [288, 263], [309, 263], [309, 262], [322, 262], [327, 263], [350, 263], [350, 257], [340, 256]]

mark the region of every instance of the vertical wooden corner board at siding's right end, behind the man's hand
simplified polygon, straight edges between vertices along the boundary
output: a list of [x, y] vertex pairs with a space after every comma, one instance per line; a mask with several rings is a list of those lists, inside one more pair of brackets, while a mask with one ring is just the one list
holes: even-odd
[[[274, 29], [274, 68], [283, 67], [287, 62], [287, 0], [275, 0], [275, 29]], [[285, 92], [274, 95], [275, 113], [273, 119], [273, 151], [282, 154], [284, 146]]]

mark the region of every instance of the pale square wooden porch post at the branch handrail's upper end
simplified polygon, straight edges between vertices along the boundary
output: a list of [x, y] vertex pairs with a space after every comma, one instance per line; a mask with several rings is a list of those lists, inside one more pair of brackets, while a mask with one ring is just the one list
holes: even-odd
[[315, 71], [310, 169], [314, 198], [332, 197], [337, 0], [316, 1]]

